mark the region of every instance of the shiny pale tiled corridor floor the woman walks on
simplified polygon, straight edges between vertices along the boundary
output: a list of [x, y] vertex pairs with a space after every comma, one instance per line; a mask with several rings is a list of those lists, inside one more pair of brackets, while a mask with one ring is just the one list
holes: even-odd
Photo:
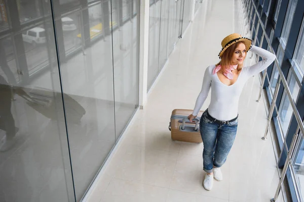
[[[244, 87], [237, 138], [222, 167], [224, 179], [215, 181], [211, 191], [202, 186], [203, 144], [172, 141], [168, 130], [173, 109], [193, 109], [205, 69], [218, 62], [221, 39], [239, 30], [235, 4], [204, 1], [88, 201], [262, 202], [274, 196], [279, 177], [271, 139], [261, 140], [267, 116], [264, 104], [255, 102], [258, 76]], [[210, 97], [202, 110], [209, 102]]]

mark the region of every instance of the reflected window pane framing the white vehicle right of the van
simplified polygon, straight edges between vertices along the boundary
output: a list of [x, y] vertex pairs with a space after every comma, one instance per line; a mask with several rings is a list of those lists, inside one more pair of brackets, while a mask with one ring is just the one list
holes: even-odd
[[63, 42], [66, 55], [82, 47], [81, 13], [75, 12], [61, 18]]

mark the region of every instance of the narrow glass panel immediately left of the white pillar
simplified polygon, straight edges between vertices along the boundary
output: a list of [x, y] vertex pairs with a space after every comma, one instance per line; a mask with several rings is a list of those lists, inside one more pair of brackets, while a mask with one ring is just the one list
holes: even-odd
[[[119, 1], [112, 0], [112, 5], [117, 5]], [[113, 31], [116, 139], [138, 107], [138, 17], [128, 20], [120, 29]]]

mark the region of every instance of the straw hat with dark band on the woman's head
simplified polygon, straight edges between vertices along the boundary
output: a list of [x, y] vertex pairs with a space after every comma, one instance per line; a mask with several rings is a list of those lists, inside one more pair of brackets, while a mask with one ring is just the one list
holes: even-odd
[[243, 41], [245, 43], [246, 46], [246, 52], [249, 51], [249, 49], [252, 47], [252, 40], [246, 37], [242, 37], [241, 34], [230, 34], [228, 36], [226, 36], [222, 42], [222, 49], [218, 54], [219, 59], [221, 59], [221, 57], [223, 56], [223, 53], [226, 51], [226, 49], [231, 46], [234, 43], [237, 43], [239, 41]]

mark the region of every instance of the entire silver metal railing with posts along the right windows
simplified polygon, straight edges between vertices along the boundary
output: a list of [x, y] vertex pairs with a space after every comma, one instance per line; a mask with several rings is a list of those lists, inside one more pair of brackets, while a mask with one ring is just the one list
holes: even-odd
[[[254, 30], [255, 35], [254, 35], [254, 39], [253, 39], [253, 41], [254, 41], [253, 44], [255, 44], [255, 42], [258, 40], [258, 31], [259, 31], [259, 29], [262, 29], [262, 35], [261, 35], [261, 39], [259, 41], [259, 47], [262, 46], [263, 40], [265, 39], [268, 43], [269, 48], [270, 48], [270, 52], [272, 52], [273, 54], [276, 54], [274, 52], [273, 47], [272, 47], [269, 36], [268, 36], [267, 32], [265, 31], [265, 26], [267, 25], [267, 19], [265, 20], [265, 23], [262, 22], [262, 20], [261, 20], [262, 11], [260, 13], [258, 12], [258, 10], [256, 8], [256, 5], [255, 5], [256, 2], [257, 1], [255, 1], [255, 0], [240, 0], [240, 4], [241, 4], [240, 10], [243, 10], [243, 11], [239, 12], [239, 19], [242, 19], [241, 20], [241, 33], [245, 33], [244, 35], [247, 36], [247, 37], [252, 37], [253, 36], [253, 30]], [[249, 16], [248, 16], [248, 14], [249, 14]], [[257, 21], [257, 23], [256, 23], [256, 21]], [[250, 26], [250, 24], [251, 24], [251, 26]], [[255, 27], [255, 25], [256, 25], [256, 27]], [[258, 59], [258, 57], [256, 58], [256, 60], [257, 59]], [[271, 199], [271, 201], [275, 202], [275, 201], [278, 200], [278, 196], [279, 196], [280, 191], [283, 187], [283, 182], [284, 182], [284, 179], [286, 177], [286, 173], [287, 173], [288, 169], [290, 170], [291, 177], [293, 179], [293, 184], [294, 184], [294, 188], [295, 188], [295, 192], [296, 192], [296, 198], [297, 198], [298, 201], [303, 201], [303, 199], [301, 197], [301, 194], [300, 194], [299, 184], [296, 183], [295, 180], [294, 180], [296, 175], [295, 175], [294, 167], [292, 165], [292, 160], [296, 159], [296, 145], [300, 145], [301, 142], [299, 142], [299, 141], [301, 141], [303, 139], [304, 125], [303, 125], [303, 122], [302, 122], [302, 120], [300, 118], [300, 115], [297, 111], [296, 105], [295, 105], [294, 100], [292, 98], [292, 94], [291, 94], [290, 89], [288, 87], [287, 81], [286, 81], [286, 79], [283, 75], [283, 72], [282, 72], [281, 66], [279, 64], [279, 61], [277, 59], [275, 60], [274, 68], [277, 68], [276, 70], [279, 73], [279, 78], [278, 78], [278, 82], [277, 82], [277, 85], [276, 85], [275, 92], [272, 94], [273, 96], [272, 96], [272, 103], [271, 103], [269, 114], [268, 114], [268, 123], [267, 123], [267, 127], [265, 129], [265, 133], [264, 133], [262, 139], [266, 140], [268, 132], [272, 133], [270, 127], [271, 127], [271, 121], [272, 121], [272, 118], [273, 118], [274, 110], [276, 110], [277, 115], [279, 115], [278, 108], [276, 106], [276, 100], [277, 100], [277, 97], [278, 97], [278, 93], [279, 93], [281, 83], [284, 86], [285, 93], [286, 93], [286, 95], [288, 97], [288, 100], [290, 102], [292, 112], [293, 112], [293, 115], [294, 115], [294, 117], [297, 121], [298, 126], [297, 126], [297, 129], [296, 129], [296, 131], [293, 135], [293, 138], [292, 138], [289, 149], [288, 149], [288, 145], [286, 144], [286, 138], [283, 137], [284, 138], [283, 139], [283, 146], [281, 148], [280, 157], [282, 156], [283, 153], [287, 153], [287, 158], [286, 158], [285, 165], [284, 165], [284, 168], [283, 168], [281, 173], [280, 173], [280, 170], [279, 170], [278, 161], [276, 159], [280, 182], [278, 184], [275, 196], [274, 196], [274, 198]], [[270, 79], [269, 79], [269, 76], [267, 74], [267, 71], [265, 70], [264, 73], [263, 73], [257, 102], [260, 101], [260, 97], [262, 95], [262, 90], [263, 90], [263, 85], [264, 85], [264, 82], [265, 82], [266, 78], [268, 79], [268, 82], [271, 83]], [[280, 117], [278, 116], [277, 118], [278, 118], [278, 121], [281, 123]], [[278, 124], [278, 125], [279, 125], [279, 129], [281, 131], [283, 131], [282, 124]], [[274, 147], [274, 149], [275, 149], [275, 147]], [[284, 195], [283, 191], [282, 191], [282, 194]]]

